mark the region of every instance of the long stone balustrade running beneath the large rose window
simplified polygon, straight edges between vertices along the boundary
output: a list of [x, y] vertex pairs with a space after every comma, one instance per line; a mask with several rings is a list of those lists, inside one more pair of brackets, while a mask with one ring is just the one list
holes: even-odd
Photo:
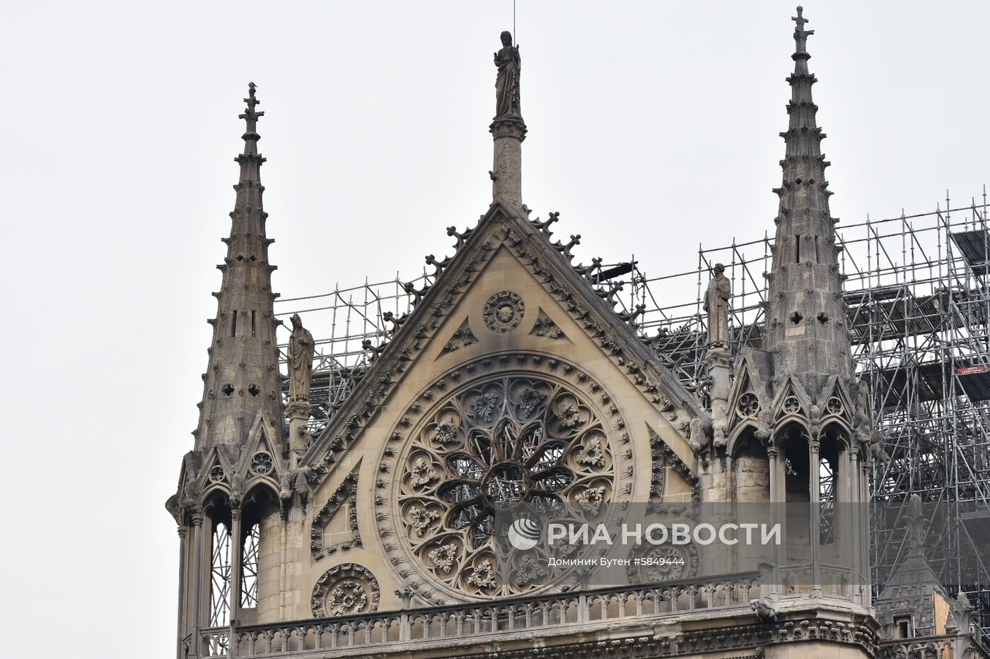
[[[486, 605], [459, 604], [344, 615], [238, 627], [230, 656], [273, 657], [312, 652], [321, 657], [377, 652], [382, 646], [449, 642], [517, 631], [545, 635], [607, 628], [624, 618], [683, 615], [744, 609], [760, 597], [759, 573], [737, 574], [662, 584], [554, 593], [502, 600]], [[228, 627], [201, 632], [201, 656], [225, 656]], [[397, 649], [397, 648], [396, 648]]]

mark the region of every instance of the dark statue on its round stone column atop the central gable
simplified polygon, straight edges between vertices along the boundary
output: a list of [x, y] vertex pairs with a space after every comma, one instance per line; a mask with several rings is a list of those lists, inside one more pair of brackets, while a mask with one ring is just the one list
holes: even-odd
[[519, 47], [513, 46], [512, 34], [501, 35], [502, 49], [495, 53], [498, 77], [495, 81], [495, 119], [488, 128], [495, 141], [495, 164], [492, 177], [492, 201], [510, 208], [523, 207], [523, 121], [519, 99]]

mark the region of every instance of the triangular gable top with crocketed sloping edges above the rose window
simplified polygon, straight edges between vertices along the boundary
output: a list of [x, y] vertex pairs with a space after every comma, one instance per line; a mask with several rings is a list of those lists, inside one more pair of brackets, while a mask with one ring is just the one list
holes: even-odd
[[[525, 359], [554, 368], [555, 354], [582, 350], [584, 358], [571, 363], [583, 365], [593, 357], [596, 378], [621, 379], [635, 388], [651, 414], [660, 412], [680, 433], [687, 433], [692, 419], [707, 416], [614, 311], [608, 292], [596, 290], [583, 276], [586, 269], [570, 263], [574, 240], [550, 241], [549, 224], [495, 203], [475, 229], [448, 230], [456, 238], [456, 253], [443, 267], [435, 261], [436, 281], [414, 292], [414, 310], [376, 350], [350, 397], [303, 457], [314, 482], [322, 481], [363, 428], [392, 404], [399, 385], [419, 391], [450, 369], [452, 380], [470, 377], [468, 362], [483, 362], [487, 355], [505, 361], [523, 360], [525, 353], [535, 355]], [[458, 364], [464, 364], [463, 371]], [[693, 459], [686, 441], [675, 450], [684, 460]]]

